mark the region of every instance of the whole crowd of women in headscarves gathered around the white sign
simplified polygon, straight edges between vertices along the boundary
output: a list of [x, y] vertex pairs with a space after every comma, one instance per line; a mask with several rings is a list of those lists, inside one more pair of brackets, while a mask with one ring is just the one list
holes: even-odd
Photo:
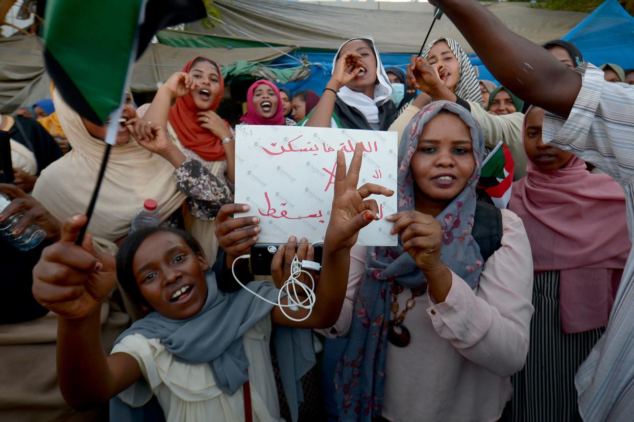
[[[348, 171], [337, 153], [311, 312], [274, 305], [295, 256], [313, 261], [308, 239], [280, 245], [267, 280], [238, 260], [261, 219], [234, 203], [213, 58], [150, 104], [129, 92], [81, 245], [107, 124], [54, 86], [0, 116], [0, 225], [46, 232], [29, 251], [0, 240], [0, 417], [630, 421], [634, 70], [536, 46], [472, 0], [431, 3], [501, 85], [454, 39], [384, 68], [365, 36], [339, 46], [321, 96], [268, 80], [247, 92], [236, 125], [398, 133], [396, 192], [358, 186], [360, 145]], [[501, 209], [479, 184], [500, 141], [515, 164]], [[356, 244], [378, 219], [370, 195], [397, 195], [398, 245]], [[146, 199], [160, 224], [133, 231]]]

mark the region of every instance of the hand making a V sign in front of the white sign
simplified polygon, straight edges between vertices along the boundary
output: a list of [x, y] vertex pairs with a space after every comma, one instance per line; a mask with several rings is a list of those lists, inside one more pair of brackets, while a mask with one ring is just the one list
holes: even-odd
[[333, 249], [353, 247], [359, 237], [359, 230], [378, 220], [378, 205], [374, 199], [366, 199], [371, 194], [392, 196], [394, 192], [385, 187], [366, 183], [356, 189], [361, 171], [361, 144], [354, 148], [353, 160], [346, 175], [346, 158], [343, 151], [337, 151], [337, 172], [335, 173], [335, 195], [332, 199], [330, 223], [326, 239]]

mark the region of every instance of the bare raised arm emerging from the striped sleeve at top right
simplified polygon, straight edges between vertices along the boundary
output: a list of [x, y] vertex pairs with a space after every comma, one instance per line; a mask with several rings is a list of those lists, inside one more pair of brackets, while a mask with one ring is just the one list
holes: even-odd
[[475, 0], [430, 0], [441, 8], [486, 68], [515, 95], [567, 117], [581, 89], [581, 75], [540, 46], [515, 34]]

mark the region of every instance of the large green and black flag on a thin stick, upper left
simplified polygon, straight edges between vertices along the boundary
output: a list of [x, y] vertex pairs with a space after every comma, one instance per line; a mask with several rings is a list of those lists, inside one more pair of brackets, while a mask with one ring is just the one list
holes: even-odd
[[[90, 221], [135, 59], [167, 25], [207, 15], [201, 0], [48, 0], [44, 63], [56, 89], [79, 115], [108, 123], [107, 147], [86, 216]], [[81, 244], [88, 224], [77, 238]]]

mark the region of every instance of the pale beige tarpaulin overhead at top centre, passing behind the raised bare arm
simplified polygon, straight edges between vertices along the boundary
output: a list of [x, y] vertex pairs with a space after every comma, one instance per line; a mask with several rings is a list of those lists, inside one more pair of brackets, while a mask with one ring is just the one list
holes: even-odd
[[[221, 11], [225, 24], [205, 30], [202, 24], [193, 23], [191, 30], [214, 35], [215, 42], [228, 37], [228, 43], [236, 42], [231, 39], [261, 40], [299, 46], [302, 51], [336, 51], [344, 40], [370, 34], [381, 53], [408, 54], [420, 49], [434, 11], [429, 3], [402, 4], [398, 11], [366, 9], [356, 2], [337, 7], [286, 0], [214, 0], [214, 6]], [[587, 16], [580, 12], [531, 8], [528, 3], [491, 3], [488, 8], [512, 31], [537, 44], [562, 37]], [[430, 39], [439, 36], [454, 38], [467, 53], [473, 53], [447, 18], [434, 25]]]

